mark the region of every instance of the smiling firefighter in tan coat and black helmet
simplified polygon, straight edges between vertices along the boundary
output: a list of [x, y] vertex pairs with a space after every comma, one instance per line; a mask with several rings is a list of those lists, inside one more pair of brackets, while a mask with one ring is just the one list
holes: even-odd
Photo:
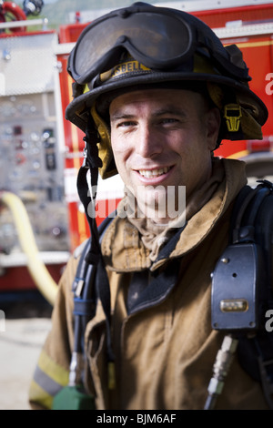
[[[102, 178], [118, 172], [125, 183], [98, 246], [78, 180], [96, 239], [86, 260], [99, 278], [96, 311], [80, 338], [85, 390], [96, 409], [203, 409], [224, 338], [211, 327], [211, 272], [247, 183], [245, 164], [214, 150], [222, 139], [261, 139], [267, 108], [249, 89], [237, 46], [224, 47], [193, 15], [144, 3], [86, 26], [68, 72], [75, 83], [66, 118], [86, 133], [83, 170], [90, 168], [92, 187], [97, 170]], [[80, 252], [60, 280], [33, 408], [52, 408], [68, 382]], [[215, 408], [267, 409], [237, 354], [229, 370]]]

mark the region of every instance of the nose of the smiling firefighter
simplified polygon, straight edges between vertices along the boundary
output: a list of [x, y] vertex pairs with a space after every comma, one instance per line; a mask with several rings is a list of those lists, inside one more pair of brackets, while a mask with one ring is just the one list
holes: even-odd
[[136, 139], [136, 152], [142, 158], [152, 158], [161, 153], [163, 148], [162, 137], [158, 135], [153, 127], [145, 125], [139, 128]]

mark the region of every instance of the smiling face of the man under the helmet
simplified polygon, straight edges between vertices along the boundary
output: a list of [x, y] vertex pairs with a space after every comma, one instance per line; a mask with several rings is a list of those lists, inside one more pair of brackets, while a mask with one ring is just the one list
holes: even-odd
[[166, 202], [169, 189], [176, 189], [177, 207], [179, 187], [186, 187], [188, 198], [210, 177], [219, 114], [201, 95], [182, 89], [130, 92], [116, 97], [109, 113], [116, 168], [146, 215], [145, 206]]

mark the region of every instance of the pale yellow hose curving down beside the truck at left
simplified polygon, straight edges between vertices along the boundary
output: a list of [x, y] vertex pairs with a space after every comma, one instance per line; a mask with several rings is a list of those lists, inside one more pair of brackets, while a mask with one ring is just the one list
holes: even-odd
[[25, 205], [15, 194], [7, 191], [0, 192], [0, 202], [4, 203], [12, 212], [18, 239], [21, 249], [26, 255], [27, 268], [31, 277], [46, 301], [53, 305], [56, 300], [57, 284], [39, 257], [39, 250]]

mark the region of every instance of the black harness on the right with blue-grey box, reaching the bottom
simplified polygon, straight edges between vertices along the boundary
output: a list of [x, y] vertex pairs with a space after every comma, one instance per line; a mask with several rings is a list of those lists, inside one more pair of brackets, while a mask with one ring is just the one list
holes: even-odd
[[237, 338], [239, 362], [261, 382], [271, 409], [273, 337], [265, 316], [273, 308], [272, 237], [273, 184], [261, 180], [238, 194], [229, 245], [213, 272], [211, 305], [212, 327]]

